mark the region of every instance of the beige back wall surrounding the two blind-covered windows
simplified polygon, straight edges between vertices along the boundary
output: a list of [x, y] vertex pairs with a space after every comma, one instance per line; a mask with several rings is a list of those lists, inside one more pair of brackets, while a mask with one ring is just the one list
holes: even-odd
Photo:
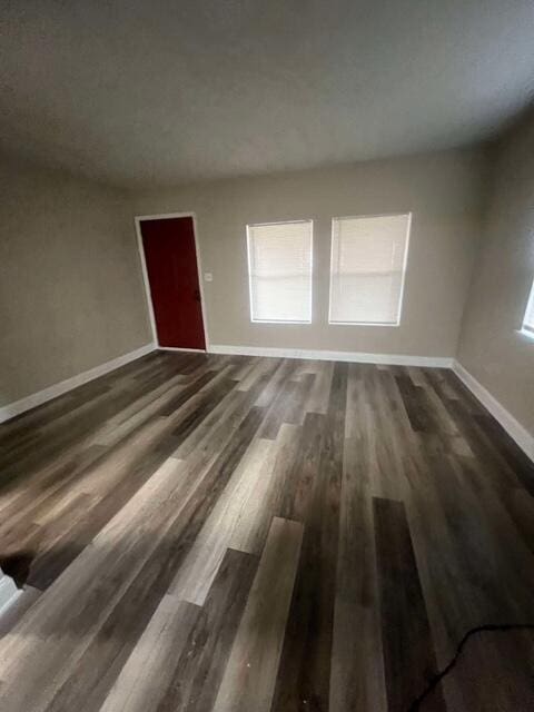
[[[479, 237], [484, 156], [448, 151], [140, 192], [137, 215], [195, 211], [211, 344], [454, 356]], [[333, 216], [413, 211], [399, 327], [329, 326]], [[251, 324], [245, 226], [314, 219], [312, 325]]]

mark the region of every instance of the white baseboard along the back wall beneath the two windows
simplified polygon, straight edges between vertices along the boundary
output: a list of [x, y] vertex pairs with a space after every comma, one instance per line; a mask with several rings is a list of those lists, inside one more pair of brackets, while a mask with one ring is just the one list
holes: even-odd
[[409, 356], [406, 354], [367, 354], [364, 352], [329, 352], [308, 348], [270, 348], [261, 346], [225, 346], [211, 344], [210, 354], [237, 356], [274, 356], [277, 358], [306, 358], [314, 360], [343, 360], [355, 364], [384, 364], [389, 366], [428, 366], [452, 368], [454, 358], [439, 356]]

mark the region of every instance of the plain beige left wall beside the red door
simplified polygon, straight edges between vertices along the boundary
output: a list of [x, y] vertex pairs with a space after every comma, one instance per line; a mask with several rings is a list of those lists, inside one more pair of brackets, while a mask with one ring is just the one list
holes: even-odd
[[0, 405], [151, 340], [123, 194], [0, 159]]

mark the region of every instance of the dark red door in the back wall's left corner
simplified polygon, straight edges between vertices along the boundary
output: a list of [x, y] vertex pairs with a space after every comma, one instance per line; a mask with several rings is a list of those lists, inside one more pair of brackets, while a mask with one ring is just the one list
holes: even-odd
[[206, 349], [191, 217], [141, 220], [160, 346]]

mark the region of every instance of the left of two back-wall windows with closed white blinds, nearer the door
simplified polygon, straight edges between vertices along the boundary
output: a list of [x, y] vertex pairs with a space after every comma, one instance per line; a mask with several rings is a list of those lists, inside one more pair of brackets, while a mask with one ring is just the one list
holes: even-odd
[[312, 322], [312, 220], [248, 225], [253, 322]]

